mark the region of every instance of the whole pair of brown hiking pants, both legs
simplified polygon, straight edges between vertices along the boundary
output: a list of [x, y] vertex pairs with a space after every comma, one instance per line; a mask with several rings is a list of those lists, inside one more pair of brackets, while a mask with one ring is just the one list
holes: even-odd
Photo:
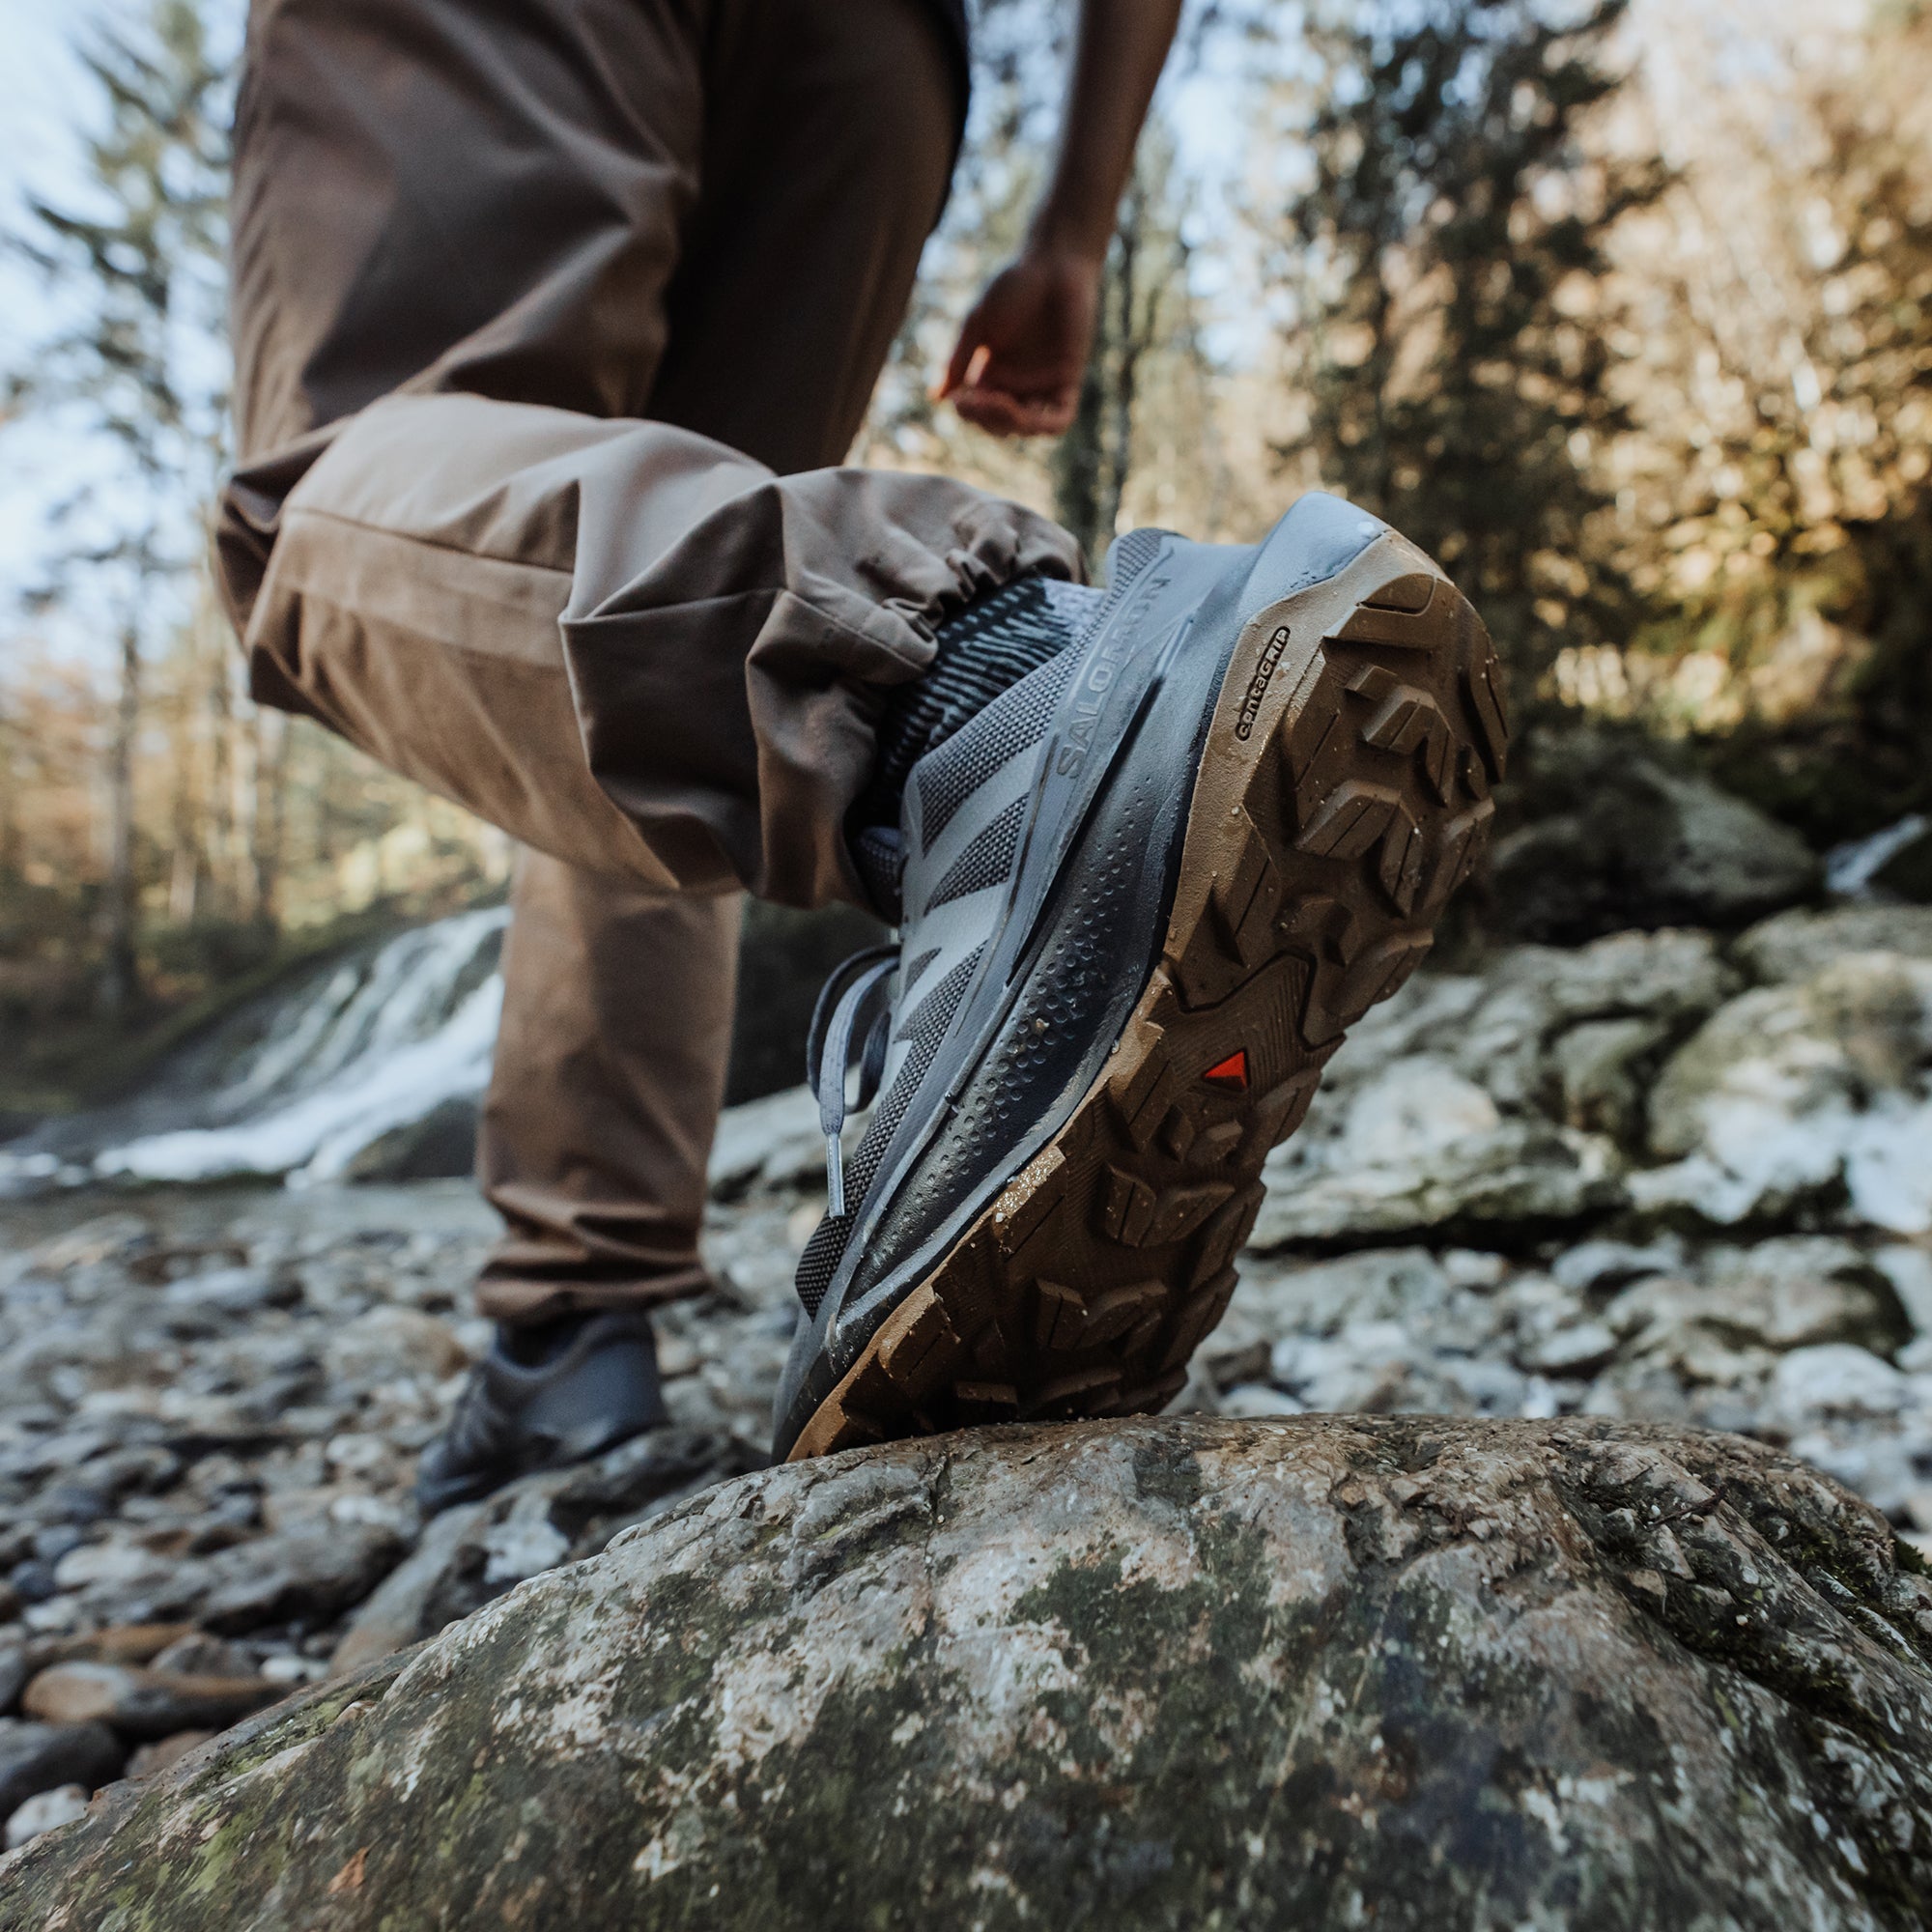
[[498, 1320], [701, 1283], [736, 887], [858, 896], [881, 688], [1072, 541], [823, 468], [937, 218], [922, 0], [255, 0], [236, 126], [257, 696], [526, 844]]

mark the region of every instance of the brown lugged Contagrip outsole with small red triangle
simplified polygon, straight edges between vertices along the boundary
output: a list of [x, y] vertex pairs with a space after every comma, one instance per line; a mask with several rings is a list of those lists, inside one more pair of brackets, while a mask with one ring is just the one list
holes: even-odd
[[1161, 960], [1107, 1066], [790, 1461], [1173, 1401], [1235, 1293], [1262, 1163], [1476, 866], [1507, 740], [1482, 620], [1393, 533], [1242, 628]]

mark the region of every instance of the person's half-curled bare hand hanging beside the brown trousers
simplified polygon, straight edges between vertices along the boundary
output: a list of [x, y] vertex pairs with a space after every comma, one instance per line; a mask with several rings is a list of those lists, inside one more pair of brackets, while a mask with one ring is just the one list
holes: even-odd
[[1057, 437], [1074, 419], [1094, 344], [1101, 263], [1030, 245], [960, 328], [933, 400], [995, 437]]

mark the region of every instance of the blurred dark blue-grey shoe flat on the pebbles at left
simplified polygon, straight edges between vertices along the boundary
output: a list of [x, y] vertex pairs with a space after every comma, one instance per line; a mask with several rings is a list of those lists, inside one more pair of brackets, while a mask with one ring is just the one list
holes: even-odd
[[498, 1329], [423, 1451], [423, 1515], [473, 1503], [518, 1476], [568, 1468], [665, 1420], [657, 1339], [643, 1314], [566, 1316], [541, 1333]]

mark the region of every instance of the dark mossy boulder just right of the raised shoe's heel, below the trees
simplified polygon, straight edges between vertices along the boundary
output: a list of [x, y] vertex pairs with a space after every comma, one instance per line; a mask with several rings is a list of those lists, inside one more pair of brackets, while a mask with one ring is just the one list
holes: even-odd
[[1822, 881], [1797, 833], [1648, 750], [1578, 734], [1549, 771], [1544, 813], [1503, 838], [1492, 862], [1503, 922], [1522, 939], [1575, 945], [1633, 925], [1741, 925]]

